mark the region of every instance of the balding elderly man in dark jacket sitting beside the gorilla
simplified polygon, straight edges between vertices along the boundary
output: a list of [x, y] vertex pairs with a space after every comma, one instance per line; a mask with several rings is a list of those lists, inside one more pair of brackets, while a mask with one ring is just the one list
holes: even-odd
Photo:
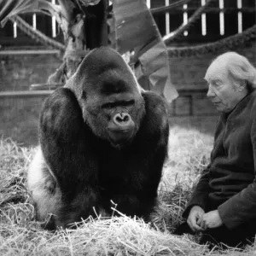
[[212, 61], [205, 79], [207, 96], [221, 115], [210, 164], [183, 217], [191, 230], [203, 233], [201, 243], [242, 247], [256, 233], [256, 70], [228, 52]]

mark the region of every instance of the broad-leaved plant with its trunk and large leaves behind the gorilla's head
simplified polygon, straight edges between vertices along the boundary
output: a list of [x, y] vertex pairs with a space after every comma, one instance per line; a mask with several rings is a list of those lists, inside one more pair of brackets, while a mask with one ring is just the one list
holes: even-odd
[[90, 49], [110, 45], [128, 56], [143, 88], [166, 96], [169, 102], [177, 97], [170, 79], [166, 45], [144, 0], [113, 0], [110, 5], [108, 0], [58, 0], [58, 4], [47, 0], [0, 2], [2, 26], [8, 19], [24, 25], [26, 21], [17, 20], [16, 16], [30, 12], [55, 16], [63, 32], [64, 61], [49, 77], [49, 84], [65, 84]]

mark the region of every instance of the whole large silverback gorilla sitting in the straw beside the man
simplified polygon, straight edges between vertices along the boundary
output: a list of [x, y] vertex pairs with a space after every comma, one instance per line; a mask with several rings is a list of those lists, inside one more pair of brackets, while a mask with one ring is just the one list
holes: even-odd
[[40, 146], [28, 189], [45, 228], [90, 215], [154, 210], [166, 159], [166, 102], [140, 89], [131, 68], [108, 47], [94, 49], [64, 88], [44, 102]]

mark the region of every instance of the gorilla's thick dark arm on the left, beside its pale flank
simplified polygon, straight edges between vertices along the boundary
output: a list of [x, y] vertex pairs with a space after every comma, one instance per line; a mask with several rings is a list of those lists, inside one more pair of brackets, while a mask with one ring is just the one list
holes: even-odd
[[71, 90], [55, 90], [44, 103], [39, 139], [44, 159], [61, 189], [61, 213], [73, 212], [73, 221], [78, 220], [76, 216], [88, 216], [98, 205], [98, 168], [90, 147], [92, 133]]

